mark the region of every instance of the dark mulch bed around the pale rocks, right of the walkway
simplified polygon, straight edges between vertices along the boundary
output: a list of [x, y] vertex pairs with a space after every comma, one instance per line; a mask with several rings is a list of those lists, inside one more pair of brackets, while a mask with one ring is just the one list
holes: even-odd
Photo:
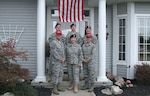
[[[94, 93], [96, 96], [109, 96], [101, 93], [101, 90], [105, 87], [96, 87], [94, 88]], [[123, 89], [123, 93], [120, 95], [111, 95], [111, 96], [150, 96], [150, 86], [144, 85], [134, 85], [134, 87]]]

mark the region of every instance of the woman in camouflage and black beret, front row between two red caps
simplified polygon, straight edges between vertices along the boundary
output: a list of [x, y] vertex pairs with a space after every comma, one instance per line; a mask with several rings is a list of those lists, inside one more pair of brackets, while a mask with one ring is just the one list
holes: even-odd
[[71, 86], [68, 89], [74, 89], [74, 92], [77, 93], [79, 83], [79, 69], [83, 60], [83, 54], [81, 46], [76, 43], [75, 34], [70, 36], [70, 42], [71, 44], [68, 44], [66, 47], [68, 74], [71, 83]]

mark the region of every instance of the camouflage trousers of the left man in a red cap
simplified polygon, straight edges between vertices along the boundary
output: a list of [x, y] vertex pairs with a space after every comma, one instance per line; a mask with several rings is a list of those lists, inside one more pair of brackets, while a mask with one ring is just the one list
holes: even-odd
[[52, 84], [57, 85], [58, 83], [61, 83], [64, 75], [63, 63], [55, 62], [55, 64], [52, 64], [51, 72]]

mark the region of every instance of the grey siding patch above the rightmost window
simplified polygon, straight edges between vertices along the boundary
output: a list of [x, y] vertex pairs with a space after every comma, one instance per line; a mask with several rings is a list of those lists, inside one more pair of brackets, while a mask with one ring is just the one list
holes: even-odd
[[135, 14], [150, 14], [150, 3], [135, 3]]

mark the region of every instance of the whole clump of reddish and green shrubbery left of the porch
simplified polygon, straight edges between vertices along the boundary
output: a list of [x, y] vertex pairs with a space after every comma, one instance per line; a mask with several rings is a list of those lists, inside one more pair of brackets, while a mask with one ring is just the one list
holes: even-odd
[[29, 83], [28, 69], [21, 68], [16, 58], [27, 60], [24, 50], [16, 50], [12, 39], [0, 42], [0, 95], [12, 92], [15, 96], [38, 96]]

